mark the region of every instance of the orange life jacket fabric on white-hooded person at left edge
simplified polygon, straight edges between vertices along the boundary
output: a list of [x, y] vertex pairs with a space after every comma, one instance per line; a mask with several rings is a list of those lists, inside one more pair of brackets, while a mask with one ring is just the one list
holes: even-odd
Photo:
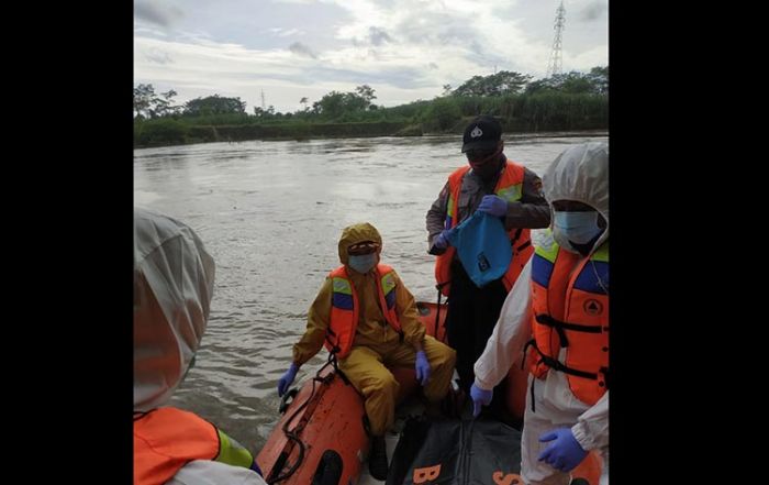
[[214, 460], [216, 427], [181, 409], [164, 407], [134, 419], [134, 485], [159, 485], [192, 460]]

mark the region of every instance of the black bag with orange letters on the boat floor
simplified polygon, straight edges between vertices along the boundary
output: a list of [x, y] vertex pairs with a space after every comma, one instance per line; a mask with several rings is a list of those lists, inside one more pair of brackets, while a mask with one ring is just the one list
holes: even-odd
[[521, 431], [495, 420], [406, 421], [387, 485], [520, 485]]

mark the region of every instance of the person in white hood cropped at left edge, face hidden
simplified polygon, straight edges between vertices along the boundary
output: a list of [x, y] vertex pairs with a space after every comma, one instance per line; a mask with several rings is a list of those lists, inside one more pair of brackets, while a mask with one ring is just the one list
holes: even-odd
[[134, 485], [263, 485], [253, 455], [170, 399], [200, 345], [214, 262], [198, 235], [134, 208]]

